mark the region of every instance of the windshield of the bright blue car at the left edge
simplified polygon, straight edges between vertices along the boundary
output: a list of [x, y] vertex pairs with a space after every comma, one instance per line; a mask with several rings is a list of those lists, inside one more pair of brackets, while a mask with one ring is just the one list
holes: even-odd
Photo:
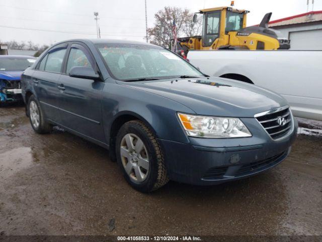
[[31, 57], [10, 57], [0, 58], [0, 71], [25, 71], [34, 62], [35, 58]]

